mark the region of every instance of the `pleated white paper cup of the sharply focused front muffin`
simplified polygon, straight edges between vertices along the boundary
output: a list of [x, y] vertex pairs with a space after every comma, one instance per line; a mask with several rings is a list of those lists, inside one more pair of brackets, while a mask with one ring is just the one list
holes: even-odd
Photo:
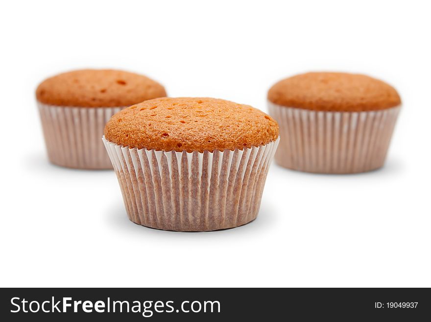
[[256, 218], [280, 139], [251, 149], [175, 152], [129, 149], [102, 138], [129, 219], [175, 231], [209, 231]]

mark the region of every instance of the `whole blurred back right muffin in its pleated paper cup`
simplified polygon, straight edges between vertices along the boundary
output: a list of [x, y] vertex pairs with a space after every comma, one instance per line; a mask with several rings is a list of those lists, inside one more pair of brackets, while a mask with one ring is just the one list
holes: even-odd
[[347, 73], [307, 73], [268, 92], [280, 125], [276, 162], [312, 173], [359, 173], [383, 166], [401, 107], [381, 80]]

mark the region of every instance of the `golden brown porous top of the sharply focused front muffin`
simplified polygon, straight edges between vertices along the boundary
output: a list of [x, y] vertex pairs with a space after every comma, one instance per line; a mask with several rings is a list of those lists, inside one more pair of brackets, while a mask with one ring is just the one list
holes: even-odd
[[278, 124], [256, 108], [228, 100], [160, 98], [115, 114], [105, 138], [138, 149], [223, 151], [275, 141]]

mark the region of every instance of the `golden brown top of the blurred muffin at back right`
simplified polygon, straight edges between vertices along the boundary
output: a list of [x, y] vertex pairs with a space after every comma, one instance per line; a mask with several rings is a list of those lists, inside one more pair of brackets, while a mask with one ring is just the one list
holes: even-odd
[[283, 79], [269, 89], [268, 100], [318, 111], [373, 111], [401, 104], [385, 82], [361, 74], [306, 73]]

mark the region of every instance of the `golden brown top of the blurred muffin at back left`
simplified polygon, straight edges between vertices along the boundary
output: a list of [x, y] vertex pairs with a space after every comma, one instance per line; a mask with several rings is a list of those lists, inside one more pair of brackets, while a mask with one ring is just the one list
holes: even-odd
[[139, 74], [116, 70], [80, 70], [44, 80], [36, 90], [38, 101], [60, 106], [129, 106], [166, 96], [165, 88]]

